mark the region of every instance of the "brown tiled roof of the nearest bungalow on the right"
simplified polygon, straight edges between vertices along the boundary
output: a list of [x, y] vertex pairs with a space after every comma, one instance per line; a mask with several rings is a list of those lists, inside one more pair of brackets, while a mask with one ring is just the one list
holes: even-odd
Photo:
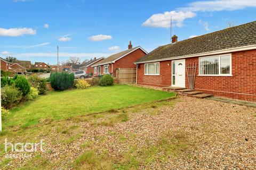
[[256, 45], [256, 21], [160, 46], [135, 63]]

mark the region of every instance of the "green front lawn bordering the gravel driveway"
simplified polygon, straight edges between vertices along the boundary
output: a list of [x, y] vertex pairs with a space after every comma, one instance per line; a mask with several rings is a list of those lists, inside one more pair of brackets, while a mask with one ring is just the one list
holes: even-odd
[[26, 128], [45, 120], [61, 120], [173, 96], [175, 94], [169, 92], [127, 85], [50, 92], [35, 101], [13, 108], [9, 117], [3, 121], [3, 128], [8, 126]]

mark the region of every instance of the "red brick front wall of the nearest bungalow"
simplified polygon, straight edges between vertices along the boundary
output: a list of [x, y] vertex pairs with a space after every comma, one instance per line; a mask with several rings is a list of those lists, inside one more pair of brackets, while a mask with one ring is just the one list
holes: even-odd
[[[187, 58], [186, 65], [190, 62], [198, 64], [198, 57]], [[171, 61], [160, 63], [161, 75], [143, 74], [144, 64], [140, 64], [137, 80], [139, 84], [171, 86]], [[198, 66], [196, 75], [198, 75]], [[256, 50], [232, 53], [232, 75], [232, 77], [196, 76], [195, 89], [215, 96], [256, 101]], [[186, 87], [189, 87], [187, 75]]]

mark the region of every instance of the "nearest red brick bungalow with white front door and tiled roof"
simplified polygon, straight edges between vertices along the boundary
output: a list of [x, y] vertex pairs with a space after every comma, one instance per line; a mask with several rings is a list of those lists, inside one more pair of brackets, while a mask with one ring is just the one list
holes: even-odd
[[197, 64], [194, 89], [256, 101], [256, 21], [161, 46], [135, 62], [137, 83], [189, 88], [186, 66]]

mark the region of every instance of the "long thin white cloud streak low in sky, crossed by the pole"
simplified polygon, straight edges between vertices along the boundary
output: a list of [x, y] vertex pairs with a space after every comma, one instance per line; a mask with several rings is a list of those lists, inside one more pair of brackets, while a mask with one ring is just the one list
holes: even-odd
[[[59, 57], [107, 57], [111, 54], [107, 53], [59, 53]], [[22, 53], [22, 54], [15, 54], [15, 57], [56, 57], [57, 53]]]

